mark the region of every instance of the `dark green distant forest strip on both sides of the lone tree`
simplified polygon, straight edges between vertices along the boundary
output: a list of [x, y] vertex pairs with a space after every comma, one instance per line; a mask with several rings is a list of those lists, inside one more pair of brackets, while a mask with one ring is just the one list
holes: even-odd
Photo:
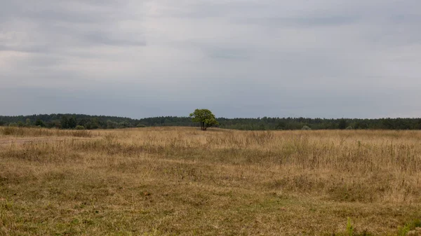
[[[217, 118], [218, 127], [235, 130], [421, 130], [421, 118], [325, 119], [325, 118]], [[161, 116], [132, 119], [117, 116], [51, 114], [0, 116], [0, 125], [58, 129], [117, 129], [151, 126], [198, 126], [192, 118]]]

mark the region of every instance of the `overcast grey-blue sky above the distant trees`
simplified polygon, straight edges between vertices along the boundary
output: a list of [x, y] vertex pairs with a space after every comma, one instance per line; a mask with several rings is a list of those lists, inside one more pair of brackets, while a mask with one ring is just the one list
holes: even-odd
[[0, 116], [421, 117], [419, 0], [0, 6]]

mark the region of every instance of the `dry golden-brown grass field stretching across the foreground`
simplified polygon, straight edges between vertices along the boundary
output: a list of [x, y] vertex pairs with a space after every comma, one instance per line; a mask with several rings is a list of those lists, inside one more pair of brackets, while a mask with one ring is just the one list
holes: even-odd
[[0, 235], [421, 235], [421, 132], [0, 127]]

